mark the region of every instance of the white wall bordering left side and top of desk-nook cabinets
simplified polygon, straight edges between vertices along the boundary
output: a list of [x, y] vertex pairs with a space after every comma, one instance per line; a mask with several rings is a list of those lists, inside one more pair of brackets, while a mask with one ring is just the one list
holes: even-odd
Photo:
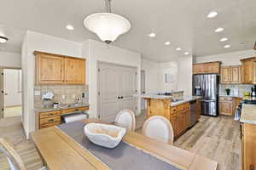
[[23, 71], [23, 127], [26, 137], [35, 130], [34, 113], [34, 77], [35, 77], [35, 56], [33, 52], [43, 51], [53, 54], [70, 55], [82, 57], [81, 44], [71, 42], [59, 37], [52, 37], [38, 32], [26, 31], [26, 36], [22, 45], [22, 71]]

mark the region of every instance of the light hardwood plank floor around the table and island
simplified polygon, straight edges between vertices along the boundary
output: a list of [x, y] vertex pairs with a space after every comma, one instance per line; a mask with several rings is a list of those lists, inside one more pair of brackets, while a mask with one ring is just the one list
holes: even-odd
[[[145, 115], [136, 118], [137, 132], [141, 133]], [[0, 120], [0, 137], [15, 144], [28, 170], [42, 166], [34, 145], [25, 138], [19, 116]], [[241, 170], [240, 127], [238, 122], [233, 121], [233, 117], [201, 116], [200, 122], [177, 139], [174, 145], [218, 161], [218, 170]], [[3, 162], [0, 161], [0, 167], [2, 166]]]

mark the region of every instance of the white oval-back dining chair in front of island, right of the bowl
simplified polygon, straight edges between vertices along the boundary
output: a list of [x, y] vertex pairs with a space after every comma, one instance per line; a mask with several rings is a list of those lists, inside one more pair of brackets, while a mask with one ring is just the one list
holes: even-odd
[[172, 124], [164, 116], [151, 116], [143, 124], [143, 135], [166, 144], [173, 144]]

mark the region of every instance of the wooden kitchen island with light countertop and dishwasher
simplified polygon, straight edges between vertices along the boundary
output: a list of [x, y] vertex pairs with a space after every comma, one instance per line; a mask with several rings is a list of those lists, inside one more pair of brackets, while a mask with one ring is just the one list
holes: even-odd
[[[147, 117], [165, 116], [172, 123], [175, 139], [194, 125], [190, 123], [192, 119], [197, 122], [201, 116], [201, 97], [199, 96], [172, 99], [172, 96], [168, 95], [143, 94], [138, 97], [147, 100]], [[195, 101], [194, 110], [190, 112], [189, 101], [193, 100]]]

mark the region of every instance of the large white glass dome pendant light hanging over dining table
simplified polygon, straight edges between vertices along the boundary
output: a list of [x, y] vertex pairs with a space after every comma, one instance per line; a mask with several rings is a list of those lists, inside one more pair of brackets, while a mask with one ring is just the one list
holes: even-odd
[[105, 0], [106, 13], [90, 14], [84, 19], [84, 26], [106, 43], [115, 41], [119, 35], [131, 29], [131, 23], [119, 14], [111, 13], [111, 0]]

